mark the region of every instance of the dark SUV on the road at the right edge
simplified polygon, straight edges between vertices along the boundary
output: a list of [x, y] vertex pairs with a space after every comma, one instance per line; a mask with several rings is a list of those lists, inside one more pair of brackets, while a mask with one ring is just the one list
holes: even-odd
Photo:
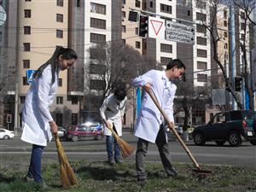
[[[195, 128], [192, 133], [196, 145], [215, 141], [224, 145], [226, 141], [231, 146], [241, 145], [241, 138], [256, 145], [256, 112], [251, 110], [236, 110], [217, 113], [207, 125]], [[253, 127], [254, 125], [254, 127]]]

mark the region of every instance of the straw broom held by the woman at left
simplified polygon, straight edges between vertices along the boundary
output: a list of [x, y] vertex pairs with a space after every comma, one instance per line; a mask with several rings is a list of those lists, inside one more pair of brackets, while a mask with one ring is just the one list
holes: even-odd
[[70, 166], [67, 155], [64, 152], [64, 149], [61, 145], [60, 139], [57, 136], [57, 133], [54, 134], [55, 136], [55, 144], [58, 151], [58, 157], [60, 161], [60, 172], [61, 172], [61, 183], [64, 188], [67, 188], [71, 185], [78, 184], [78, 179], [75, 176], [72, 167]]

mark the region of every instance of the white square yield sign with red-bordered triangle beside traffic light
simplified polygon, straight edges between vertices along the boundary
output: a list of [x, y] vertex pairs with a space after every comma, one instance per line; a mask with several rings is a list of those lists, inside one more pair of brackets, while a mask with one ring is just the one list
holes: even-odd
[[148, 17], [148, 38], [165, 38], [165, 20]]

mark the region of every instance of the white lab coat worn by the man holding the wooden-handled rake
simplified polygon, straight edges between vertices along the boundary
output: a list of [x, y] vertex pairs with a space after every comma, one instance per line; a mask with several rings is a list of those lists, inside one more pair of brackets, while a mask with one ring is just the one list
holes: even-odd
[[[172, 106], [177, 86], [167, 79], [166, 71], [158, 70], [150, 70], [148, 73], [137, 77], [132, 82], [136, 87], [144, 86], [147, 83], [151, 84], [151, 89], [157, 101], [160, 103], [160, 107], [166, 112], [169, 120], [174, 122]], [[161, 124], [166, 125], [165, 119], [161, 115], [160, 110], [155, 106], [151, 97], [145, 91], [141, 111], [137, 117], [135, 136], [155, 143]]]

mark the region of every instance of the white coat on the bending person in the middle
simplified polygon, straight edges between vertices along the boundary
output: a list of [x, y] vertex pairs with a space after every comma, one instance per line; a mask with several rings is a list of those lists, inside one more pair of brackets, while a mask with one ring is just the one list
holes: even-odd
[[[113, 94], [109, 95], [100, 108], [100, 113], [102, 119], [107, 119], [110, 123], [112, 123], [117, 131], [117, 134], [122, 136], [122, 117], [125, 114], [125, 107], [126, 107], [127, 97], [118, 103], [115, 100]], [[112, 133], [109, 131], [107, 125], [104, 124], [104, 135], [111, 136]]]

